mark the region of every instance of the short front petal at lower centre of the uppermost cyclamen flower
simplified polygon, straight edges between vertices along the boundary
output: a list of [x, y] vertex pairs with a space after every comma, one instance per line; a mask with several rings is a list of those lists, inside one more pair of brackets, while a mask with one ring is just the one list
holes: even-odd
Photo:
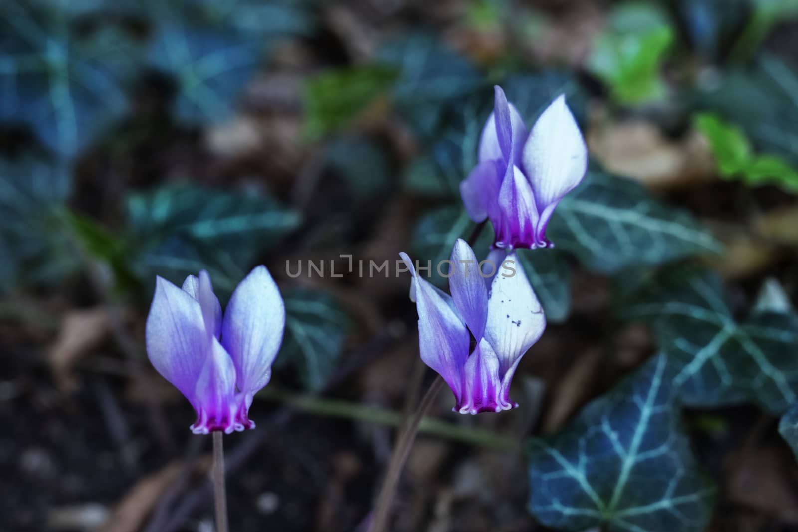
[[496, 246], [499, 248], [535, 248], [544, 243], [535, 235], [538, 209], [527, 177], [521, 169], [513, 167], [512, 175], [505, 177], [499, 193], [500, 216], [493, 220], [496, 229]]

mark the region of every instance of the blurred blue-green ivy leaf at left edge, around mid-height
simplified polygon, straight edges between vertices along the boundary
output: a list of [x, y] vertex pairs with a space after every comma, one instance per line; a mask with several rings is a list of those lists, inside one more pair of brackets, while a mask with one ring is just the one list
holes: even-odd
[[41, 157], [0, 158], [0, 288], [52, 284], [77, 266], [61, 221], [69, 185], [69, 173]]

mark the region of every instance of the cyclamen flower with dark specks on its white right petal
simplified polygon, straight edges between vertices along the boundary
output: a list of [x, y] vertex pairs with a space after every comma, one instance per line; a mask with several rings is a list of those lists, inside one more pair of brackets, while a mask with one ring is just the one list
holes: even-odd
[[[457, 239], [449, 296], [417, 274], [407, 253], [400, 256], [413, 274], [410, 299], [417, 305], [421, 359], [452, 388], [452, 410], [477, 414], [518, 407], [510, 399], [512, 375], [546, 328], [523, 268], [513, 268], [512, 275], [498, 273], [488, 280], [488, 289], [471, 246]], [[514, 263], [504, 264], [518, 264], [515, 252], [508, 254], [509, 260]], [[476, 339], [473, 351], [469, 331]]]

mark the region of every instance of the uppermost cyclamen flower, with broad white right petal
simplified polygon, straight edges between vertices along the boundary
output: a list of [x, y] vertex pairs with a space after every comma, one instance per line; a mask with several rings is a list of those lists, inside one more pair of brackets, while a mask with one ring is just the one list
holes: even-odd
[[493, 113], [480, 138], [479, 164], [460, 183], [472, 220], [490, 218], [496, 248], [546, 248], [546, 226], [559, 200], [587, 171], [587, 148], [560, 95], [531, 131], [496, 85]]

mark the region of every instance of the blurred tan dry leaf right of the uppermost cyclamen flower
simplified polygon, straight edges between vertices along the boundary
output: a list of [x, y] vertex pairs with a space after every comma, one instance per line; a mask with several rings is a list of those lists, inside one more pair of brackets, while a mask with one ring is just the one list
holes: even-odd
[[604, 121], [591, 113], [587, 145], [612, 173], [631, 177], [654, 189], [674, 189], [714, 179], [712, 155], [705, 138], [690, 132], [679, 141], [662, 135], [648, 121]]

